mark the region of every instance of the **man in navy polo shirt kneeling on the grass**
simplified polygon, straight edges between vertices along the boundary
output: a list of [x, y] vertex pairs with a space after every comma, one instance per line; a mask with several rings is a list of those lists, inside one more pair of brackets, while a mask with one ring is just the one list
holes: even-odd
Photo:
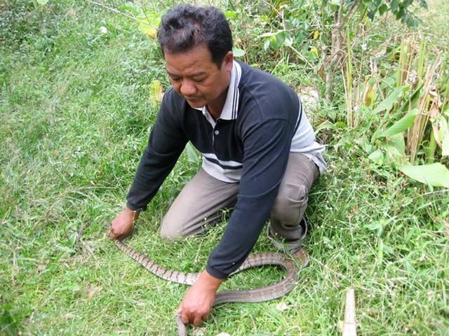
[[234, 207], [206, 269], [178, 309], [185, 324], [198, 325], [267, 218], [276, 246], [293, 253], [302, 246], [307, 194], [325, 168], [324, 148], [314, 141], [293, 90], [233, 59], [231, 30], [216, 8], [169, 10], [158, 39], [173, 87], [163, 97], [128, 204], [112, 221], [109, 237], [130, 234], [191, 141], [203, 155], [202, 167], [163, 218], [162, 237], [203, 232], [220, 221], [220, 209]]

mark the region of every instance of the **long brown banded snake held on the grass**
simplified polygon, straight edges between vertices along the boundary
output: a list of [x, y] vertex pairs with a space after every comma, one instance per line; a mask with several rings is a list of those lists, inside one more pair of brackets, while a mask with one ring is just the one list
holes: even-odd
[[[135, 251], [130, 246], [123, 243], [119, 239], [114, 240], [116, 246], [126, 253], [130, 258], [133, 258], [145, 269], [152, 272], [152, 274], [159, 276], [166, 281], [181, 283], [183, 285], [191, 286], [196, 279], [199, 278], [200, 273], [188, 272], [182, 273], [172, 269], [167, 269], [161, 265], [156, 264], [146, 255]], [[306, 260], [307, 262], [307, 260]], [[222, 290], [215, 294], [215, 301], [213, 306], [226, 302], [263, 302], [277, 299], [287, 293], [290, 293], [295, 288], [299, 277], [300, 268], [292, 258], [287, 258], [286, 254], [279, 252], [262, 252], [251, 253], [248, 255], [243, 264], [232, 274], [243, 271], [251, 267], [258, 267], [264, 265], [276, 265], [283, 267], [286, 270], [286, 276], [274, 283], [271, 286], [264, 286], [260, 288], [248, 290]], [[230, 275], [232, 275], [230, 274]], [[176, 318], [177, 330], [179, 336], [187, 336], [187, 326], [182, 322], [180, 314]]]

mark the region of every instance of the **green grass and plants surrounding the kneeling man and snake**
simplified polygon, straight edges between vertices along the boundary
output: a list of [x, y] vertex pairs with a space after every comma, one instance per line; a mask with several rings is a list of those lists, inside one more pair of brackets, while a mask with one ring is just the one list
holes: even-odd
[[[328, 170], [310, 195], [311, 265], [297, 288], [272, 302], [215, 307], [192, 333], [339, 335], [351, 287], [359, 335], [448, 335], [445, 173], [437, 182], [429, 177], [439, 170], [410, 177], [404, 163], [448, 166], [448, 2], [429, 0], [415, 31], [389, 13], [373, 21], [354, 13], [334, 68], [326, 50], [338, 1], [196, 2], [227, 11], [241, 59], [301, 92]], [[151, 27], [134, 18], [145, 8], [142, 20], [156, 22], [172, 4], [0, 0], [0, 334], [176, 335], [185, 287], [156, 279], [104, 236], [169, 85], [156, 41], [142, 34]], [[406, 148], [414, 104], [438, 113], [420, 128], [415, 162]], [[128, 239], [186, 272], [201, 271], [224, 225], [175, 244], [158, 230], [199, 165], [188, 147]], [[261, 235], [255, 250], [273, 247]], [[223, 289], [280, 276], [255, 269]]]

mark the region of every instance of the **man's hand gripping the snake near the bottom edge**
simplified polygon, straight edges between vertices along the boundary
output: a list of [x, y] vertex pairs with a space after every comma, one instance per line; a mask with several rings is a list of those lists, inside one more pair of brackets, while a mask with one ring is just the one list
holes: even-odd
[[222, 281], [208, 274], [206, 269], [200, 274], [177, 309], [184, 324], [199, 325], [208, 317], [215, 301], [215, 293]]

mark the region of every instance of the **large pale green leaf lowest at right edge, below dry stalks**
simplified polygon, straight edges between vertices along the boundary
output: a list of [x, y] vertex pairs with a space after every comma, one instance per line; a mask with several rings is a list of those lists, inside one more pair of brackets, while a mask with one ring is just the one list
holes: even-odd
[[441, 163], [413, 166], [406, 162], [401, 172], [410, 179], [426, 183], [428, 186], [449, 188], [449, 169]]

